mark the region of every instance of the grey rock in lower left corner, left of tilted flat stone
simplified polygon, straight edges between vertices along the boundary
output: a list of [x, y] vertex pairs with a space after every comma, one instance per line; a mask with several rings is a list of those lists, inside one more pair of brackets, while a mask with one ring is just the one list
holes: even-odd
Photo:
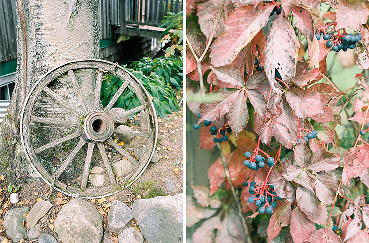
[[23, 215], [28, 213], [29, 208], [10, 209], [4, 216], [4, 223], [2, 226], [5, 229], [5, 234], [10, 237], [13, 242], [19, 242], [20, 239], [26, 238], [27, 234], [23, 227], [25, 218]]

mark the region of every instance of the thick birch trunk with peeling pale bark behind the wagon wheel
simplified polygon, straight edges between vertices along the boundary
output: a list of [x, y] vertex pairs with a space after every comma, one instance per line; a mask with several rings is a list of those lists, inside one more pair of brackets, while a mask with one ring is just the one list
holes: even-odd
[[[99, 0], [16, 0], [17, 70], [7, 115], [0, 127], [1, 173], [7, 183], [29, 177], [19, 122], [28, 92], [50, 69], [99, 56]], [[92, 92], [91, 83], [82, 84]]]

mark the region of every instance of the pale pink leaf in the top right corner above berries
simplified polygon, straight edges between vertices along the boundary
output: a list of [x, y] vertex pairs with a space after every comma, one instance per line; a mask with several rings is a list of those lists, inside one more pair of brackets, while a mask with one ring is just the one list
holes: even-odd
[[360, 25], [368, 21], [369, 5], [366, 1], [338, 0], [336, 10], [336, 29], [350, 27], [358, 30]]

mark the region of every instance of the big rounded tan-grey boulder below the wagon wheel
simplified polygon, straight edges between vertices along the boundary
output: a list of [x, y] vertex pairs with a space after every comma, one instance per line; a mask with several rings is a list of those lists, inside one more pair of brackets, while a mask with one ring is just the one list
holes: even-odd
[[60, 210], [54, 231], [63, 243], [100, 243], [103, 217], [95, 206], [81, 198], [72, 199]]

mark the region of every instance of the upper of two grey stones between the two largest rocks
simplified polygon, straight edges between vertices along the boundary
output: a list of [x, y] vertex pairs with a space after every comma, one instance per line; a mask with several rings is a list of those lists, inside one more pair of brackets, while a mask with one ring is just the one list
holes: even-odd
[[133, 212], [123, 202], [114, 200], [108, 213], [109, 229], [119, 231], [133, 220]]

